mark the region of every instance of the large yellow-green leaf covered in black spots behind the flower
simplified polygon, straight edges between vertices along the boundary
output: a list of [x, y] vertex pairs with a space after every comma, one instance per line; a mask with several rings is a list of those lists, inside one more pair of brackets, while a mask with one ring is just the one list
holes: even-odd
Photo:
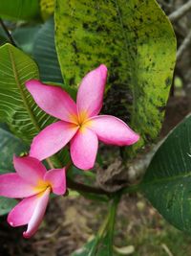
[[122, 105], [121, 117], [130, 120], [141, 137], [135, 151], [158, 136], [176, 38], [155, 0], [56, 0], [55, 41], [68, 84], [77, 85], [100, 63], [108, 66], [112, 100], [107, 113], [120, 117]]

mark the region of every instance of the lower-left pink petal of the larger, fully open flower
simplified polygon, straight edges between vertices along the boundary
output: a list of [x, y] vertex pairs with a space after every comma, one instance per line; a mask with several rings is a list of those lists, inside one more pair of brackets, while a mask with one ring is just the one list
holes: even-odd
[[58, 121], [43, 129], [32, 141], [30, 155], [43, 160], [61, 150], [74, 136], [78, 127]]

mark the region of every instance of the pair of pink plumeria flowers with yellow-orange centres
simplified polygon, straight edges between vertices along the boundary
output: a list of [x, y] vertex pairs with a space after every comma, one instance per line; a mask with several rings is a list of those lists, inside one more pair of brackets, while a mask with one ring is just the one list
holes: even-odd
[[59, 119], [34, 137], [29, 156], [13, 158], [16, 173], [0, 175], [0, 196], [22, 198], [11, 210], [11, 226], [28, 224], [25, 238], [30, 238], [42, 221], [49, 196], [66, 192], [66, 169], [47, 172], [40, 162], [70, 143], [74, 165], [90, 170], [96, 161], [98, 140], [105, 144], [128, 146], [138, 141], [138, 134], [114, 116], [98, 115], [107, 80], [107, 68], [101, 64], [82, 80], [76, 104], [62, 88], [27, 81], [35, 103]]

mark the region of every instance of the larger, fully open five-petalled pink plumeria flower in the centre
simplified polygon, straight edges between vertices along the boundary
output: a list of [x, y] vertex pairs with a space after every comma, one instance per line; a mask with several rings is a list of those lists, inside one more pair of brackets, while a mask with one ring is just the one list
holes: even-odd
[[117, 146], [132, 145], [138, 134], [114, 116], [97, 115], [103, 104], [107, 67], [101, 64], [82, 80], [74, 100], [62, 88], [27, 81], [32, 97], [48, 114], [60, 119], [43, 129], [32, 141], [30, 155], [40, 160], [61, 150], [70, 142], [74, 165], [83, 170], [93, 168], [98, 139]]

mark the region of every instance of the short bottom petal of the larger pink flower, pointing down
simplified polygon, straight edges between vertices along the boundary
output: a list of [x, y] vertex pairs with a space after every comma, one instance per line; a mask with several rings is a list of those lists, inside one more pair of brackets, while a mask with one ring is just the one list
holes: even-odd
[[94, 167], [98, 140], [96, 133], [89, 128], [81, 128], [71, 141], [71, 156], [74, 165], [83, 170]]

